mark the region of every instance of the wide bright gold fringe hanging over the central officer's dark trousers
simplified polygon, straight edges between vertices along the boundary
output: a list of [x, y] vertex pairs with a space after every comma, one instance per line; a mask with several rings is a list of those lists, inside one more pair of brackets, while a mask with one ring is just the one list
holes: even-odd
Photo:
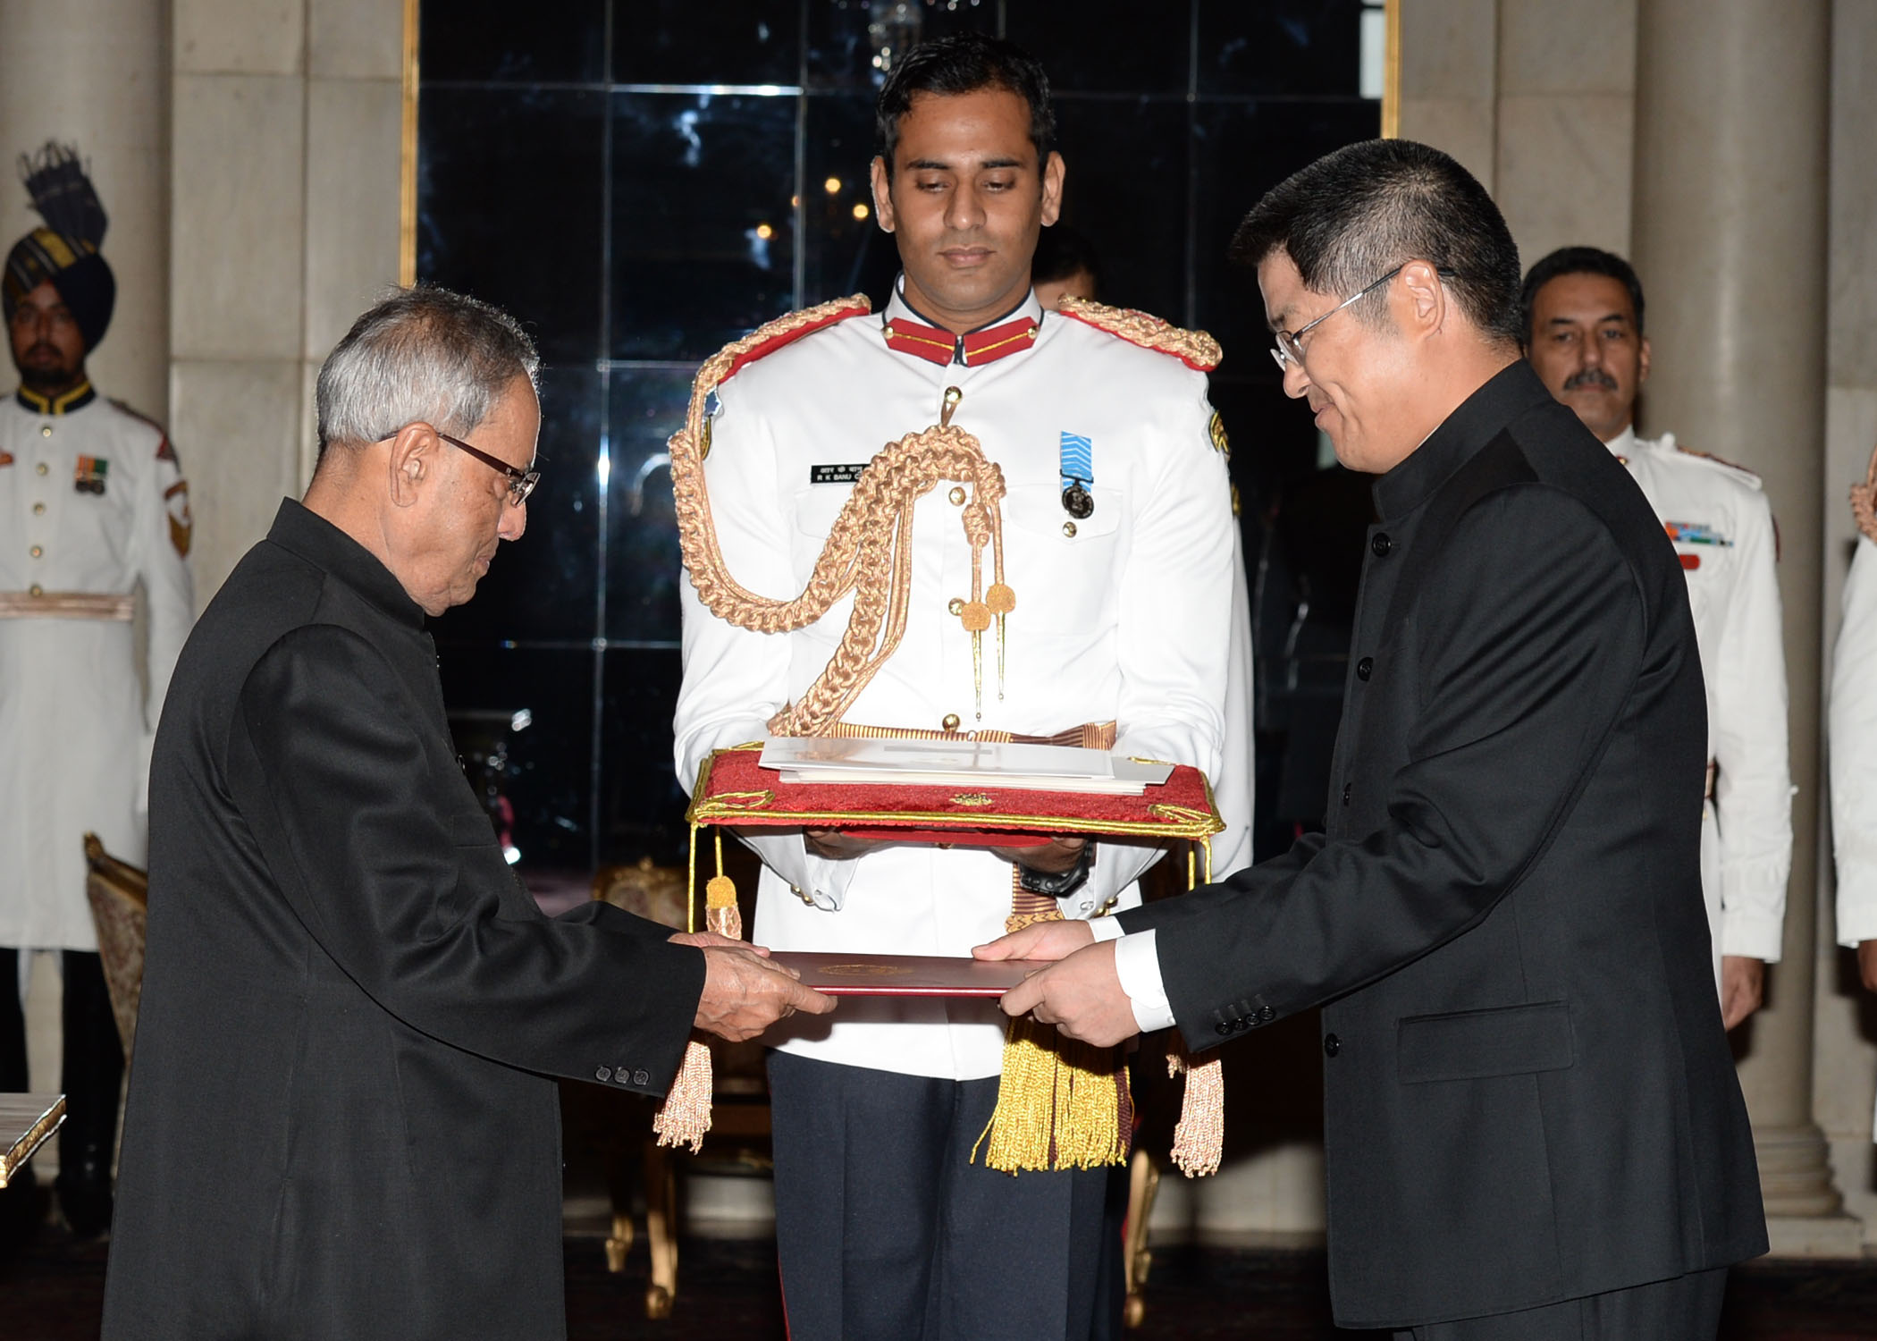
[[1019, 1016], [1004, 1031], [997, 1108], [970, 1159], [984, 1149], [985, 1168], [1004, 1174], [1124, 1164], [1132, 1134], [1121, 1119], [1126, 1084], [1113, 1048], [1064, 1039]]

